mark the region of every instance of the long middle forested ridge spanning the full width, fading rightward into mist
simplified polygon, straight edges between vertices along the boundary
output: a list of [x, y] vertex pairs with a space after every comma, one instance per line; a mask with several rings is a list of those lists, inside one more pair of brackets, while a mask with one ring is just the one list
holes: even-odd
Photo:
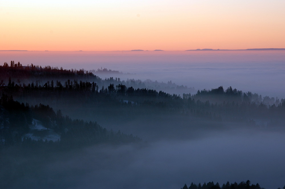
[[[282, 125], [285, 113], [285, 100], [263, 97], [251, 92], [229, 87], [197, 94], [171, 95], [146, 88], [127, 88], [125, 85], [109, 84], [99, 90], [95, 82], [67, 80], [47, 82], [43, 86], [34, 83], [18, 86], [9, 82], [0, 87], [3, 94], [11, 94], [21, 102], [36, 105], [49, 104], [56, 109], [77, 109], [78, 115], [95, 114], [101, 116], [172, 114], [202, 117], [224, 121], [254, 121], [262, 119], [274, 125]], [[88, 110], [88, 111], [87, 111]], [[91, 110], [91, 112], [90, 112]], [[68, 110], [67, 110], [68, 111]], [[69, 113], [66, 113], [70, 115]]]

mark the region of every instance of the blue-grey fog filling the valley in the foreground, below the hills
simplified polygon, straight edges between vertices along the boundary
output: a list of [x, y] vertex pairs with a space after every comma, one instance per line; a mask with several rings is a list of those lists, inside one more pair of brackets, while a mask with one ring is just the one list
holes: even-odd
[[[281, 144], [281, 145], [280, 145]], [[145, 147], [94, 146], [41, 162], [13, 180], [14, 188], [166, 188], [194, 182], [251, 180], [284, 186], [284, 133], [249, 129], [211, 132], [189, 140], [159, 140]], [[13, 188], [12, 187], [12, 188]]]

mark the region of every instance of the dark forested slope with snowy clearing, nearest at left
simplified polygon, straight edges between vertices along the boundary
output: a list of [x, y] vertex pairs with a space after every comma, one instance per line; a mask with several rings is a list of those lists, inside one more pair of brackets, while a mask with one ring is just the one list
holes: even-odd
[[[113, 132], [102, 128], [97, 122], [85, 122], [56, 113], [48, 105], [29, 106], [13, 100], [12, 96], [2, 95], [0, 99], [0, 148], [11, 145], [29, 144], [57, 145], [63, 148], [75, 148], [99, 143], [121, 144], [139, 142], [132, 135]], [[41, 128], [35, 128], [32, 121], [41, 122]], [[44, 141], [46, 136], [60, 136], [58, 141]], [[37, 138], [37, 140], [32, 140]]]

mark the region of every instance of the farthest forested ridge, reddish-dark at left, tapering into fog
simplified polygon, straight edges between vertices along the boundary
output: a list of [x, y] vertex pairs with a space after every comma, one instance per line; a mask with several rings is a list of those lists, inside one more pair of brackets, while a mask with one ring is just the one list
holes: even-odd
[[[105, 72], [107, 69], [98, 69], [98, 73]], [[111, 73], [117, 73], [117, 71], [107, 70]], [[94, 72], [95, 74], [97, 72]], [[171, 81], [164, 83], [164, 82], [157, 82], [151, 80], [135, 80], [135, 79], [127, 79], [121, 80], [119, 77], [113, 78], [99, 78], [98, 76], [94, 75], [91, 71], [85, 71], [84, 69], [76, 70], [66, 70], [62, 67], [50, 67], [45, 66], [41, 67], [38, 65], [27, 65], [23, 66], [20, 62], [14, 63], [11, 61], [10, 64], [4, 63], [3, 66], [0, 66], [0, 86], [7, 85], [9, 82], [9, 78], [14, 82], [14, 85], [24, 85], [28, 83], [34, 82], [36, 86], [42, 86], [47, 81], [60, 81], [64, 83], [66, 80], [82, 80], [88, 82], [95, 82], [100, 88], [102, 86], [109, 86], [110, 83], [115, 85], [123, 84], [127, 87], [133, 88], [149, 88], [149, 89], [156, 89], [156, 90], [163, 90], [165, 92], [171, 93], [193, 93], [196, 92], [194, 88], [188, 88], [187, 86], [179, 86]]]

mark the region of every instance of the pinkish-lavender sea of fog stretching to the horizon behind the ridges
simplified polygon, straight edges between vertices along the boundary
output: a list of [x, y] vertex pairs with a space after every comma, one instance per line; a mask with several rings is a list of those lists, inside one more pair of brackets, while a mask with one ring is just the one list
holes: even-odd
[[136, 74], [99, 75], [103, 78], [172, 80], [196, 90], [232, 86], [244, 92], [285, 98], [285, 51], [0, 51], [0, 57], [2, 64], [14, 60], [23, 65], [66, 69], [103, 67]]

